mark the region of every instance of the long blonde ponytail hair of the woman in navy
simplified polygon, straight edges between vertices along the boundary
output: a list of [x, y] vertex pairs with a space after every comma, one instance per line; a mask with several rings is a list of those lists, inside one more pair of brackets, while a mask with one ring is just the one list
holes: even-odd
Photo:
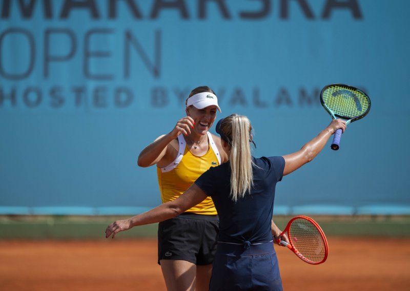
[[231, 146], [231, 198], [237, 201], [253, 186], [250, 146], [251, 122], [248, 117], [232, 114], [220, 124], [221, 138]]

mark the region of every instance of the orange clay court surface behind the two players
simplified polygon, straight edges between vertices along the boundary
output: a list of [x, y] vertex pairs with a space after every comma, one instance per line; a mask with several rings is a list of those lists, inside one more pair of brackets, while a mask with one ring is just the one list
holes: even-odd
[[[275, 246], [285, 291], [408, 290], [410, 239], [328, 237], [309, 265]], [[0, 241], [0, 290], [165, 290], [155, 239]]]

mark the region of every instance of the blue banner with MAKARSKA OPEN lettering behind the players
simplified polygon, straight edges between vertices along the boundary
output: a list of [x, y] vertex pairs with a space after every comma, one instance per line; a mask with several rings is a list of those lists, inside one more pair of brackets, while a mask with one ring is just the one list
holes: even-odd
[[[275, 213], [410, 214], [408, 1], [0, 1], [0, 214], [121, 214], [160, 203], [139, 152], [207, 85], [247, 115], [255, 156], [331, 121], [322, 87], [371, 112], [278, 185]], [[395, 107], [396, 106], [396, 107]], [[214, 129], [212, 129], [214, 132]], [[404, 148], [404, 149], [403, 149]], [[407, 190], [406, 190], [407, 189]]]

